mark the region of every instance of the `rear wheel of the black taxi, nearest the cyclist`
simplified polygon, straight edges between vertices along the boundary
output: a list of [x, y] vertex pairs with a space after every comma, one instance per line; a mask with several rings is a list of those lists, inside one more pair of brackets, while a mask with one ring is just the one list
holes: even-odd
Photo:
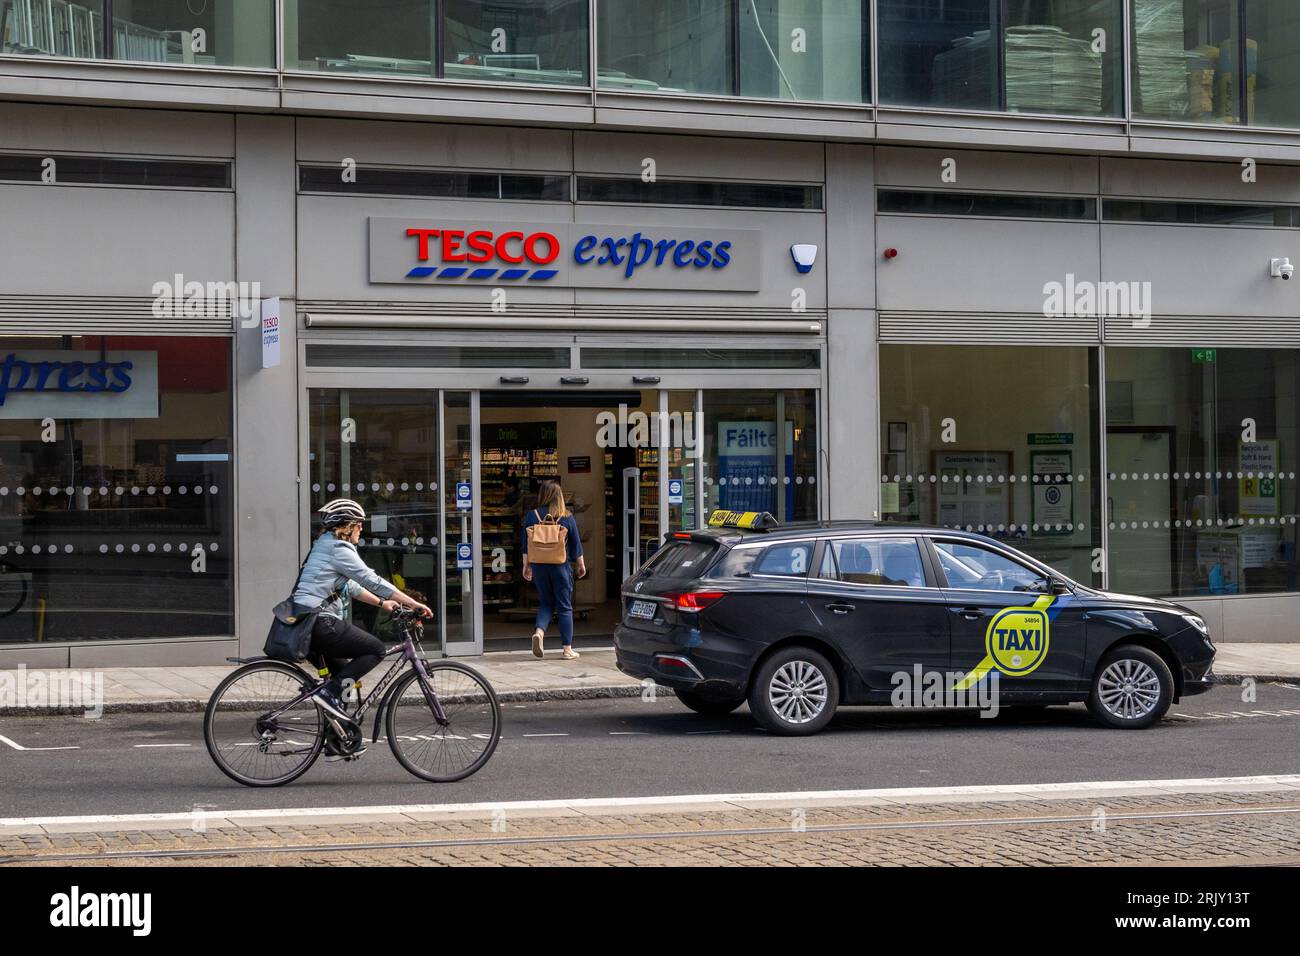
[[781, 648], [759, 666], [749, 689], [754, 719], [781, 736], [807, 736], [826, 727], [840, 702], [840, 679], [812, 648]]

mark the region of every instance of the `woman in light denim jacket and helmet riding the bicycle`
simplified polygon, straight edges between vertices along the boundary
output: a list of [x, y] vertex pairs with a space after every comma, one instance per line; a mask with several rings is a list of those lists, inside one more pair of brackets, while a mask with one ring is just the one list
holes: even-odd
[[[398, 606], [415, 607], [424, 618], [433, 611], [403, 594], [372, 571], [356, 553], [365, 511], [351, 498], [335, 498], [320, 510], [325, 531], [312, 545], [303, 564], [294, 605], [302, 614], [320, 609], [312, 628], [312, 654], [325, 657], [330, 679], [312, 697], [322, 710], [351, 721], [343, 706], [343, 682], [360, 680], [384, 659], [384, 641], [343, 619], [347, 605], [356, 600], [378, 605], [386, 611]], [[343, 659], [351, 658], [346, 665]]]

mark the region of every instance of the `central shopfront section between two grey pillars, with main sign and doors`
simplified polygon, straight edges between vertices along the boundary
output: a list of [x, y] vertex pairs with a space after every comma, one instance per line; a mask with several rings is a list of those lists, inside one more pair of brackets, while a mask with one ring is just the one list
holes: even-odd
[[[715, 507], [827, 514], [827, 268], [792, 255], [826, 247], [820, 148], [750, 186], [719, 178], [727, 144], [651, 143], [680, 183], [667, 206], [644, 195], [645, 140], [393, 127], [378, 174], [337, 183], [317, 178], [325, 157], [367, 143], [306, 126], [299, 509], [359, 498], [363, 557], [438, 606], [447, 653], [529, 632], [521, 519], [542, 480], [578, 519], [580, 636], [607, 636], [619, 583]], [[410, 195], [426, 186], [416, 156], [481, 181]], [[378, 195], [394, 168], [408, 195]], [[723, 182], [734, 207], [699, 208]]]

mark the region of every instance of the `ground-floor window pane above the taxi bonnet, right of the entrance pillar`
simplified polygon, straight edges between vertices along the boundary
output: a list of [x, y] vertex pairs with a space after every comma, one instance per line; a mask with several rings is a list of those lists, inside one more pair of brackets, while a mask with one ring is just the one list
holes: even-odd
[[881, 346], [881, 519], [988, 535], [1100, 584], [1096, 363], [1083, 347]]

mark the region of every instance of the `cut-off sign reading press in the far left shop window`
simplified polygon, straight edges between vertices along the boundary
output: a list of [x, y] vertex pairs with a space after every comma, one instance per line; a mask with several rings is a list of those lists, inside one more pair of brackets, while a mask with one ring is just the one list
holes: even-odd
[[0, 350], [0, 419], [157, 416], [157, 352]]

